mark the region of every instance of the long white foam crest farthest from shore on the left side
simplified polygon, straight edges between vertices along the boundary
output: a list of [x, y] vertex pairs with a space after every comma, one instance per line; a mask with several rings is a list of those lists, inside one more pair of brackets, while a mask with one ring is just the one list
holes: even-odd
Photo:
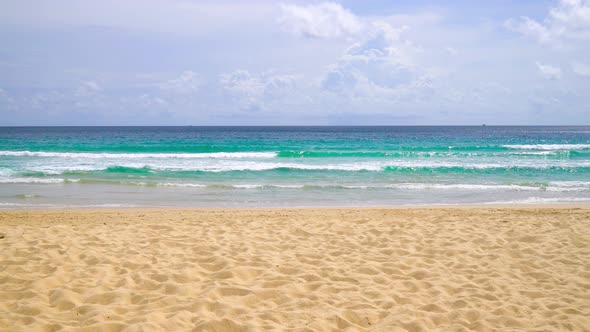
[[211, 152], [211, 153], [90, 153], [90, 152], [45, 152], [45, 151], [0, 151], [0, 156], [84, 158], [84, 159], [232, 159], [274, 158], [276, 152]]

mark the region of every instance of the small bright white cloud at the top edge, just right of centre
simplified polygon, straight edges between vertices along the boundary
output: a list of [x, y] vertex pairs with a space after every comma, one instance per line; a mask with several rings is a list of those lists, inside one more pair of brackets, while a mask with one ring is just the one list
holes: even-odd
[[303, 6], [283, 4], [279, 23], [292, 33], [315, 38], [346, 36], [363, 28], [353, 13], [334, 2]]

